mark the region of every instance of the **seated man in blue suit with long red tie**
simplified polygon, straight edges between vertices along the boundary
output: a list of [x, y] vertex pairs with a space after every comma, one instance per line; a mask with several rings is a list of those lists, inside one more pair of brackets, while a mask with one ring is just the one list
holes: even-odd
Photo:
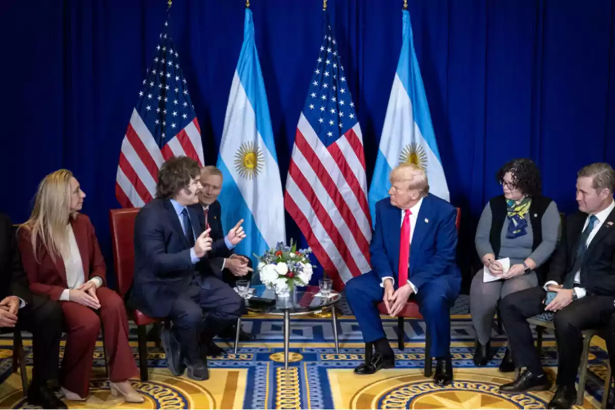
[[346, 299], [354, 312], [364, 341], [375, 345], [370, 363], [357, 374], [393, 368], [395, 355], [380, 320], [378, 303], [396, 316], [409, 298], [419, 304], [431, 352], [437, 358], [434, 380], [453, 380], [450, 356], [450, 307], [459, 295], [461, 273], [455, 263], [457, 210], [429, 194], [425, 171], [401, 164], [391, 172], [390, 199], [376, 203], [376, 227], [371, 239], [373, 270], [346, 283]]

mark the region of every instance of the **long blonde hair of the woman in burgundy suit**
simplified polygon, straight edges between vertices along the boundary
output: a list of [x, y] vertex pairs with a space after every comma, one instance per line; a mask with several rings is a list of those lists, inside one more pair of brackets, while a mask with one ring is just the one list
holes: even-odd
[[[20, 226], [28, 229], [34, 259], [38, 262], [37, 241], [47, 248], [52, 260], [68, 252], [68, 225], [71, 218], [71, 178], [69, 170], [57, 170], [42, 179], [36, 191], [30, 219]], [[72, 215], [72, 217], [76, 217]]]

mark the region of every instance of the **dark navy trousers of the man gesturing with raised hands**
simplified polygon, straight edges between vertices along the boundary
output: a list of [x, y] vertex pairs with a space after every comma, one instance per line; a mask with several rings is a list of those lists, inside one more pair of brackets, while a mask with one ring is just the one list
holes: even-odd
[[236, 321], [244, 309], [244, 299], [220, 279], [209, 276], [200, 283], [192, 282], [175, 301], [169, 315], [189, 363], [199, 361], [199, 346], [207, 345], [229, 323]]

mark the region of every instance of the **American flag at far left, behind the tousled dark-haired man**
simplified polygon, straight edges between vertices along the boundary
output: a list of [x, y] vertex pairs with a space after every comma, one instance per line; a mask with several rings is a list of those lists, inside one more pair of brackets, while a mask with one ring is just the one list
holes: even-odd
[[119, 154], [116, 197], [124, 208], [142, 207], [156, 196], [158, 170], [170, 157], [204, 164], [199, 122], [179, 57], [167, 20]]

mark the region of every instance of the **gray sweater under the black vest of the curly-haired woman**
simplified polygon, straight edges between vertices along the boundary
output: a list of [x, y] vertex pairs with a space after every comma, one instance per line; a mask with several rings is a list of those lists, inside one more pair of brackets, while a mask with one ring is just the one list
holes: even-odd
[[[526, 228], [527, 234], [509, 239], [506, 237], [508, 231], [509, 219], [504, 219], [504, 226], [502, 226], [501, 233], [501, 247], [498, 258], [510, 258], [510, 265], [522, 263], [525, 259], [530, 258], [536, 262], [536, 267], [541, 266], [549, 259], [561, 234], [561, 218], [560, 213], [557, 210], [555, 202], [551, 202], [547, 210], [542, 215], [542, 242], [536, 250], [532, 251], [532, 244], [534, 242], [534, 235], [532, 231], [532, 224], [530, 222], [530, 213], [525, 215], [525, 219], [528, 221]], [[491, 206], [487, 203], [482, 215], [480, 215], [480, 221], [478, 221], [478, 227], [476, 229], [476, 250], [478, 256], [482, 258], [485, 254], [493, 253], [493, 248], [489, 241], [489, 235], [491, 231]]]

